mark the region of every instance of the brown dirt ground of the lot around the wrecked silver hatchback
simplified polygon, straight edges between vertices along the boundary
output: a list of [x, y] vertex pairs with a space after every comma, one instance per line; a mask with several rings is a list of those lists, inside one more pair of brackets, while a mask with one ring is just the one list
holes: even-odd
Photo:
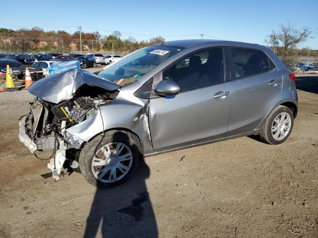
[[297, 87], [283, 144], [241, 137], [149, 157], [108, 190], [78, 173], [42, 178], [47, 161], [17, 136], [33, 97], [0, 93], [0, 238], [318, 238], [318, 77]]

